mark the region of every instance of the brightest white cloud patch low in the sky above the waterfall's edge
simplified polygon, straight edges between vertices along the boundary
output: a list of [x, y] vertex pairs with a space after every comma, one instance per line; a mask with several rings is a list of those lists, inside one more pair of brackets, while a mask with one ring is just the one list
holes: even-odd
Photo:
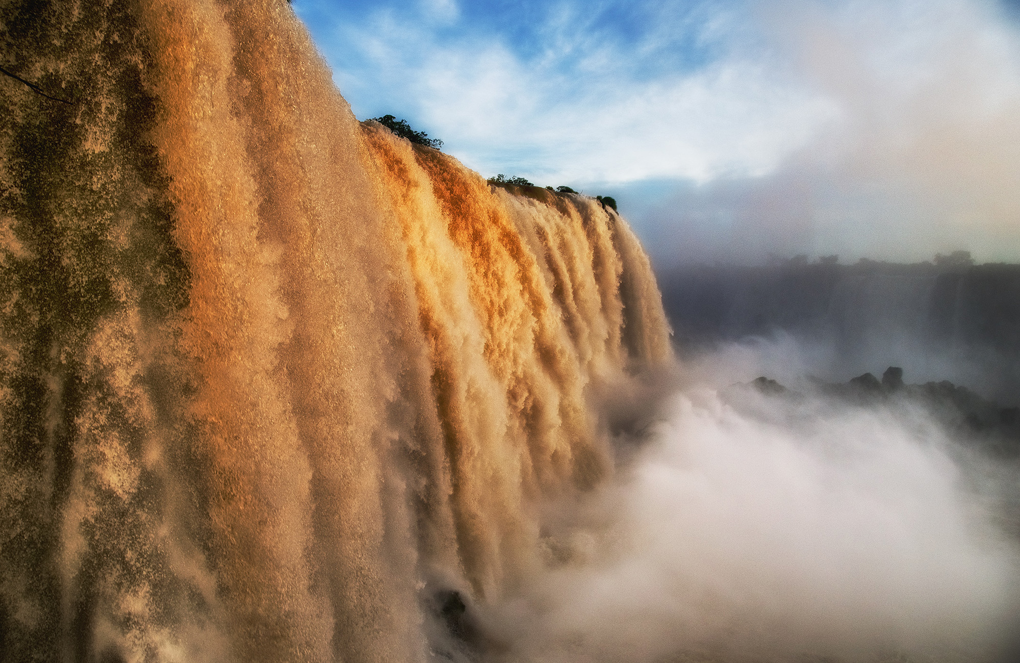
[[831, 104], [745, 61], [651, 82], [576, 82], [492, 47], [445, 51], [424, 68], [425, 119], [457, 137], [453, 153], [494, 170], [505, 158], [494, 154], [497, 144], [517, 153], [522, 174], [558, 181], [760, 175], [835, 115]]

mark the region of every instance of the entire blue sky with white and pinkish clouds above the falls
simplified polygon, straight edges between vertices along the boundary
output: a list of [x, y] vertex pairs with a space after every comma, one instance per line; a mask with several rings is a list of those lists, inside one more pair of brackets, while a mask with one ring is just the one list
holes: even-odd
[[363, 119], [614, 195], [653, 258], [1020, 260], [1017, 2], [294, 0]]

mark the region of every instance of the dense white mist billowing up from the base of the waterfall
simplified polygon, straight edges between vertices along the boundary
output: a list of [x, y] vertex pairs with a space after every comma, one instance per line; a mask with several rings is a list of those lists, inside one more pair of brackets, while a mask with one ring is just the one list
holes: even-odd
[[1016, 462], [907, 399], [716, 387], [755, 359], [616, 393], [618, 474], [548, 507], [493, 660], [1014, 660]]

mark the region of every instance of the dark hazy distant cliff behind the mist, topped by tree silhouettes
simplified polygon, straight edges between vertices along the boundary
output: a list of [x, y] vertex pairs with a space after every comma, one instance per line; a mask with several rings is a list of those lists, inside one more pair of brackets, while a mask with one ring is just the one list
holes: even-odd
[[790, 262], [659, 284], [681, 349], [786, 336], [823, 348], [810, 370], [830, 378], [891, 364], [1020, 405], [1020, 265]]

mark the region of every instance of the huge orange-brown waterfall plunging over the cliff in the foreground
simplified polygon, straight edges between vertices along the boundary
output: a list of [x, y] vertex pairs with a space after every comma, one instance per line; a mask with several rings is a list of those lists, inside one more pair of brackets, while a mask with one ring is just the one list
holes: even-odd
[[627, 224], [359, 124], [283, 0], [0, 26], [0, 660], [410, 661], [512, 593], [670, 356]]

